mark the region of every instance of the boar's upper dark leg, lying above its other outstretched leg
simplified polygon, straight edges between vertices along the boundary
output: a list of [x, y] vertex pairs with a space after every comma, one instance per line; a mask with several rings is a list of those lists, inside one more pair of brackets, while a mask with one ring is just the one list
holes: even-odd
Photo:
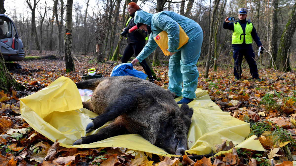
[[[124, 100], [122, 100], [124, 99]], [[86, 133], [89, 133], [91, 131], [94, 131], [95, 129], [103, 126], [105, 123], [117, 118], [118, 116], [126, 113], [127, 111], [132, 111], [139, 101], [136, 99], [136, 97], [126, 97], [126, 96], [121, 96], [118, 97], [117, 99], [114, 100], [115, 102], [109, 103], [110, 106], [106, 107], [104, 112], [95, 117], [91, 118], [92, 121], [86, 126]]]

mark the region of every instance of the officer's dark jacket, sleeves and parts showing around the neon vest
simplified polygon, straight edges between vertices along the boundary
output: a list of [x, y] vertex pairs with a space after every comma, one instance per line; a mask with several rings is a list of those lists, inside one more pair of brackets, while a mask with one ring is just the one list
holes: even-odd
[[[242, 30], [245, 33], [246, 32], [247, 20], [246, 19], [239, 20], [238, 23], [242, 26]], [[227, 23], [227, 22], [224, 21], [223, 28], [233, 31], [234, 30], [234, 25], [233, 24], [234, 24], [234, 22]], [[260, 45], [262, 45], [262, 43], [260, 42], [260, 39], [259, 39], [259, 37], [257, 35], [254, 24], [253, 24], [253, 29], [252, 29], [252, 32], [251, 32], [251, 36], [252, 36], [253, 40], [255, 41], [255, 43], [257, 44], [258, 47]], [[244, 41], [243, 41], [242, 44], [232, 44], [232, 48], [233, 49], [252, 48], [252, 44], [246, 44], [246, 40], [244, 38]]]

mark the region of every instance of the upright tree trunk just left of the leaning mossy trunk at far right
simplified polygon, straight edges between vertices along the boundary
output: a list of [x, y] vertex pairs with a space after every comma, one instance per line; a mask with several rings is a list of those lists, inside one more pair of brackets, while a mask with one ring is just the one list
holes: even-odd
[[274, 62], [276, 61], [276, 55], [278, 53], [278, 8], [279, 0], [272, 1], [272, 14], [271, 21], [269, 24], [268, 34], [269, 34], [269, 45], [268, 51], [271, 53], [272, 59], [269, 63], [270, 67], [274, 67]]

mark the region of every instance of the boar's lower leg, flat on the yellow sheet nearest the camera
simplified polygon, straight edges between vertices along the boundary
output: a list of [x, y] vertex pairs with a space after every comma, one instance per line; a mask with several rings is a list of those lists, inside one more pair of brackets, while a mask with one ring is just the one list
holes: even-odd
[[77, 141], [75, 141], [73, 145], [89, 144], [92, 142], [101, 141], [113, 136], [118, 136], [123, 134], [130, 134], [130, 133], [126, 130], [125, 127], [113, 122], [108, 126], [100, 129], [99, 132], [96, 134], [81, 137], [81, 139], [78, 139]]

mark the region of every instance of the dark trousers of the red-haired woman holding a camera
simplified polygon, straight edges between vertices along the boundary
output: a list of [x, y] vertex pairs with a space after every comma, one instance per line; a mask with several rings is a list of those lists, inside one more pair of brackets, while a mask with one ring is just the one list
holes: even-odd
[[[121, 62], [122, 63], [127, 63], [128, 60], [133, 56], [135, 53], [136, 56], [139, 55], [139, 53], [142, 51], [144, 48], [144, 45], [142, 43], [132, 43], [132, 44], [127, 44], [126, 49], [124, 49]], [[148, 77], [152, 77], [150, 68], [148, 64], [146, 63], [145, 59], [142, 62], [139, 62], [139, 64], [143, 67], [144, 71], [148, 75]]]

